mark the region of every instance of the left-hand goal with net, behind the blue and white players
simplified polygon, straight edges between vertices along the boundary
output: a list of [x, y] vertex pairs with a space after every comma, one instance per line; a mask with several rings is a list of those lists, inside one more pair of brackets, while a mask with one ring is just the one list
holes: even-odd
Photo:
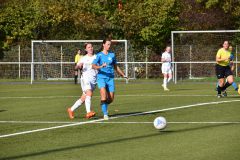
[[[93, 44], [95, 53], [102, 46], [102, 40], [33, 40], [31, 83], [39, 80], [73, 80], [76, 50], [84, 50], [86, 42]], [[121, 69], [131, 78], [131, 69], [126, 63], [132, 61], [128, 55], [127, 40], [112, 40], [111, 50], [116, 54]]]

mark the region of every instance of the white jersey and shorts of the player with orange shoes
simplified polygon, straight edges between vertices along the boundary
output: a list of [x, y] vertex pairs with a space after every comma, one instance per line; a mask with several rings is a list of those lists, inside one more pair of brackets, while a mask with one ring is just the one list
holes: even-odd
[[81, 58], [79, 62], [83, 64], [81, 78], [93, 84], [96, 84], [96, 80], [97, 80], [97, 70], [92, 68], [92, 62], [95, 58], [96, 58], [95, 55], [93, 56], [85, 55]]

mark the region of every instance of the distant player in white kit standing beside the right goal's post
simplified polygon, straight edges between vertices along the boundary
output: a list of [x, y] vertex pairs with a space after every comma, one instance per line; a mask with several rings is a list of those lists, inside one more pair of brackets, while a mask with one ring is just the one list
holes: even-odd
[[162, 74], [163, 74], [163, 84], [162, 87], [164, 91], [169, 91], [167, 88], [167, 84], [172, 79], [172, 66], [171, 66], [171, 47], [167, 46], [165, 48], [165, 52], [162, 54], [161, 62], [162, 62]]

